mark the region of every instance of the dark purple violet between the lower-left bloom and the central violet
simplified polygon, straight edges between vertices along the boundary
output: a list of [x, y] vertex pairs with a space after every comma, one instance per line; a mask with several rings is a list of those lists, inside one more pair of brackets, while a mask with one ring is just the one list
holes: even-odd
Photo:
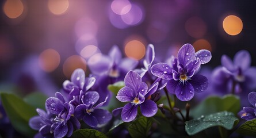
[[96, 91], [88, 91], [82, 96], [82, 103], [75, 108], [74, 115], [79, 120], [85, 121], [90, 127], [97, 127], [98, 124], [105, 124], [112, 119], [112, 115], [108, 110], [99, 109], [107, 100], [106, 97], [104, 102], [94, 106], [98, 101], [100, 95]]

